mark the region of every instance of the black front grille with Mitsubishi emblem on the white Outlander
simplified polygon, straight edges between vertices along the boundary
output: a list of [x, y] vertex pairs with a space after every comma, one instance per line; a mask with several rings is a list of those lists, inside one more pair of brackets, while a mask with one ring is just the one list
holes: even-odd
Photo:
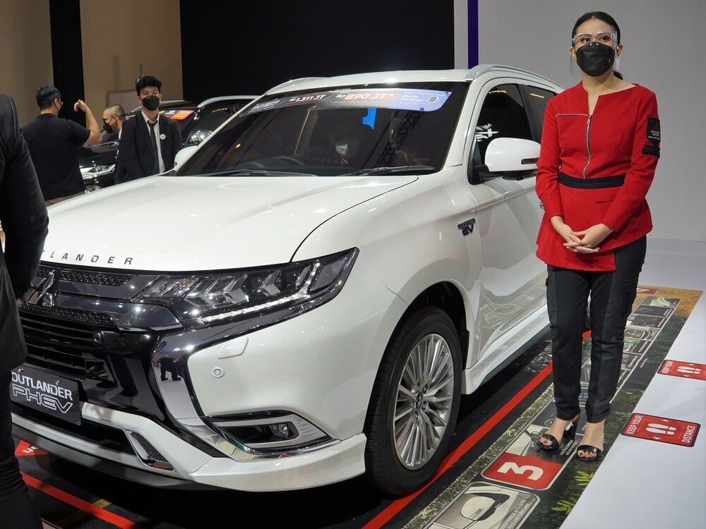
[[[116, 356], [121, 357], [116, 360], [121, 366], [128, 358], [148, 365], [157, 333], [148, 328], [149, 324], [128, 323], [119, 328], [115, 312], [110, 311], [119, 306], [130, 313], [129, 296], [152, 278], [131, 272], [42, 263], [33, 281], [35, 297], [30, 296], [28, 303], [20, 307], [28, 363], [71, 377], [111, 382], [116, 377], [110, 364], [115, 364], [112, 360]], [[46, 279], [50, 281], [47, 283]], [[51, 291], [51, 296], [42, 298], [46, 290]], [[117, 319], [120, 321], [120, 315]], [[144, 376], [143, 373], [141, 377]]]

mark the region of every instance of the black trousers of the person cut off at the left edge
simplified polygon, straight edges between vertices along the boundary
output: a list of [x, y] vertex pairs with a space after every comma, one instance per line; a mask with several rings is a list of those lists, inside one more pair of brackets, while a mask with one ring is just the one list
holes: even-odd
[[10, 415], [9, 372], [0, 375], [0, 528], [42, 529], [15, 457]]

